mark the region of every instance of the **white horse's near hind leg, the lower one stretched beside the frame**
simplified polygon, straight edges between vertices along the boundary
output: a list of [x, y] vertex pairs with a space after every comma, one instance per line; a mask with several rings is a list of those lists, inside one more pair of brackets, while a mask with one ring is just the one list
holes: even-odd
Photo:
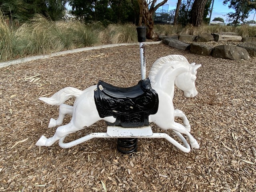
[[69, 123], [67, 125], [60, 126], [56, 129], [54, 136], [51, 138], [46, 138], [41, 136], [41, 138], [36, 142], [37, 146], [51, 146], [54, 142], [58, 141], [60, 138], [66, 136], [67, 134], [81, 130], [82, 128], [76, 128], [74, 124]]

